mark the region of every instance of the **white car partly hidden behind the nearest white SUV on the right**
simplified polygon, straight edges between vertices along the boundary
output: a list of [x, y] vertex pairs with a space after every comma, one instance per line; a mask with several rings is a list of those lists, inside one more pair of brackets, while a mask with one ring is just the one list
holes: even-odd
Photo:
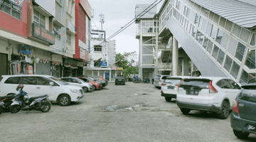
[[161, 84], [161, 96], [166, 102], [171, 102], [172, 98], [176, 98], [178, 92], [178, 84], [187, 76], [166, 77]]

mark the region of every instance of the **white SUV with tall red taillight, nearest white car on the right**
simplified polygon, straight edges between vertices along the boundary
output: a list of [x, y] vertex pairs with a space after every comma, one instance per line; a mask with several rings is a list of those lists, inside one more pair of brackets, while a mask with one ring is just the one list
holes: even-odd
[[191, 110], [215, 112], [227, 119], [240, 86], [226, 77], [191, 77], [178, 85], [176, 104], [183, 114]]

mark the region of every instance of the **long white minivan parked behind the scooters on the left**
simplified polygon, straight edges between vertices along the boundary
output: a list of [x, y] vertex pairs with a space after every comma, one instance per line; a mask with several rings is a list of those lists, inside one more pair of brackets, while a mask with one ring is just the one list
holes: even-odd
[[75, 87], [50, 75], [2, 75], [0, 96], [17, 94], [16, 87], [23, 84], [28, 97], [49, 95], [50, 101], [60, 106], [68, 106], [70, 102], [78, 102], [84, 97], [81, 87]]

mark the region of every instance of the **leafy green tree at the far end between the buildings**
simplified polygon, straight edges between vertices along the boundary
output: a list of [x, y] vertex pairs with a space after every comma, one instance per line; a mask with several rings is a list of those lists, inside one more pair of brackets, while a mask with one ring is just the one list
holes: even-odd
[[116, 55], [116, 65], [117, 67], [123, 67], [123, 75], [139, 73], [139, 65], [135, 62], [135, 57], [137, 57], [136, 51], [124, 54], [118, 53]]

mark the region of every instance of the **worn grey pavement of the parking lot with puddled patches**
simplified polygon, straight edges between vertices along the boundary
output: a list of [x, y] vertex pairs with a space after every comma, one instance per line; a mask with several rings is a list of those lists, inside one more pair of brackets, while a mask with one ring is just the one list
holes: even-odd
[[1, 141], [256, 141], [253, 134], [238, 139], [230, 116], [183, 115], [152, 84], [109, 83], [68, 107], [53, 102], [48, 113], [26, 113], [0, 115]]

